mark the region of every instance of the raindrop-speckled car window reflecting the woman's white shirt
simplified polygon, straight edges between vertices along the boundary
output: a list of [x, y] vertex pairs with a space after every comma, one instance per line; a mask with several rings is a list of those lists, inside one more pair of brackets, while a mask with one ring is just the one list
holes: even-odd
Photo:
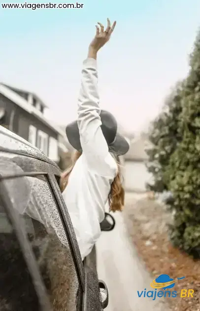
[[[6, 162], [7, 173], [24, 173], [16, 163], [11, 162]], [[58, 212], [58, 204], [46, 175], [9, 178], [4, 179], [3, 183], [26, 230], [52, 310], [76, 310], [82, 287]], [[18, 310], [21, 309], [15, 311]]]

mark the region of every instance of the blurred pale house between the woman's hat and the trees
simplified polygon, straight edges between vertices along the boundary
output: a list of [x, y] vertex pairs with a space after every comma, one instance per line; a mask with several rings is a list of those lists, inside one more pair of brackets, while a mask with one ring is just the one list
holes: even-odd
[[152, 180], [147, 171], [148, 156], [145, 149], [149, 146], [147, 135], [140, 135], [132, 140], [130, 150], [124, 156], [124, 179], [127, 192], [145, 192], [146, 183]]

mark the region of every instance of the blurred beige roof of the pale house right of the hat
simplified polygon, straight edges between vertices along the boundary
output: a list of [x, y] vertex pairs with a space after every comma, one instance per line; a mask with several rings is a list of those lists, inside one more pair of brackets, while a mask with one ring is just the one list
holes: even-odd
[[140, 136], [132, 140], [128, 153], [124, 156], [125, 160], [145, 161], [148, 156], [145, 148], [149, 144], [147, 137]]

